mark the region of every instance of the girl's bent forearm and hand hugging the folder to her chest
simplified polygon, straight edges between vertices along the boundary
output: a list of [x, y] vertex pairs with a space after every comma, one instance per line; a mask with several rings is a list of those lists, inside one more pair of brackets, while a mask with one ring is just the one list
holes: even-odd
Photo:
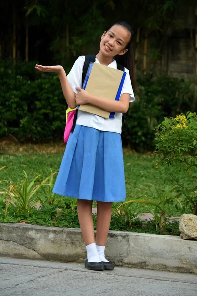
[[109, 112], [126, 113], [129, 108], [130, 95], [124, 93], [119, 101], [109, 101], [90, 95], [87, 91], [76, 87], [80, 92], [76, 94], [76, 105], [92, 104]]

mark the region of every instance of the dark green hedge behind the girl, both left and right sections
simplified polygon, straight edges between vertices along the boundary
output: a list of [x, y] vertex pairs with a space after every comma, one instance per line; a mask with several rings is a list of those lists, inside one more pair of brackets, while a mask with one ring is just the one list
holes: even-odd
[[[0, 137], [19, 142], [61, 140], [66, 101], [57, 74], [39, 73], [35, 62], [0, 62]], [[66, 69], [66, 73], [69, 68]], [[183, 79], [137, 75], [136, 100], [124, 115], [124, 146], [143, 152], [154, 148], [154, 128], [165, 116], [195, 111], [197, 86]]]

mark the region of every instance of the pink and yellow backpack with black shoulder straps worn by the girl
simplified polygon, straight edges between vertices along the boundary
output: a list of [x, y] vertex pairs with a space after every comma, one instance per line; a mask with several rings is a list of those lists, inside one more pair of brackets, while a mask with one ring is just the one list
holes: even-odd
[[[86, 77], [86, 73], [88, 71], [88, 66], [90, 63], [95, 62], [95, 55], [86, 55], [85, 56], [85, 62], [83, 66], [83, 72], [82, 72], [82, 86]], [[125, 68], [117, 63], [117, 69], [124, 71]], [[68, 138], [70, 136], [70, 133], [73, 133], [75, 125], [76, 125], [76, 120], [77, 120], [77, 112], [78, 109], [77, 107], [74, 109], [71, 109], [69, 106], [67, 107], [66, 110], [66, 126], [65, 126], [65, 131], [64, 131], [64, 143], [67, 143]]]

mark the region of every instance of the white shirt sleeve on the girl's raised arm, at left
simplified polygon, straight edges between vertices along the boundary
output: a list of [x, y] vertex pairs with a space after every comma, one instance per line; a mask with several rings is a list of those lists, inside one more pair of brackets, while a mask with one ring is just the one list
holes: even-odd
[[75, 87], [82, 88], [82, 72], [84, 61], [85, 56], [78, 57], [69, 74], [67, 75], [68, 82], [74, 93], [78, 93]]

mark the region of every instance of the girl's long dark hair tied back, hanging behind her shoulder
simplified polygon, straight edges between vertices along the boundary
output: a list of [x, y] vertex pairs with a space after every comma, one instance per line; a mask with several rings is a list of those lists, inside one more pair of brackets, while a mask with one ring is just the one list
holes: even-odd
[[126, 28], [131, 33], [131, 38], [128, 44], [126, 45], [126, 47], [124, 48], [124, 49], [127, 49], [128, 51], [124, 55], [116, 55], [114, 59], [116, 60], [117, 63], [121, 64], [122, 66], [124, 66], [129, 70], [132, 87], [133, 87], [133, 90], [135, 91], [136, 85], [135, 85], [135, 72], [134, 72], [134, 53], [133, 53], [133, 46], [132, 46], [134, 30], [131, 28], [131, 26], [128, 23], [121, 21], [121, 22], [114, 23], [112, 26], [109, 27], [109, 29], [106, 32], [108, 32], [111, 29], [111, 27], [115, 25], [120, 25]]

